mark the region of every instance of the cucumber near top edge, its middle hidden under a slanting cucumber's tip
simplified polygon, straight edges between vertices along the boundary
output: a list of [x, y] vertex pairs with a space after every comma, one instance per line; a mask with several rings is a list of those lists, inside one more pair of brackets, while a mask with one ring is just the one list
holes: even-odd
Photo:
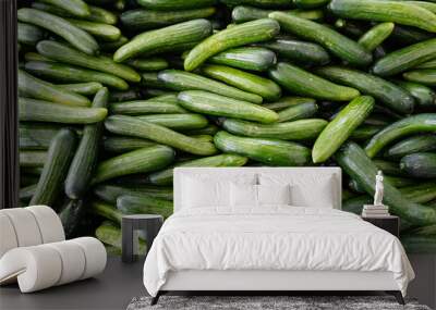
[[[238, 5], [234, 7], [232, 10], [232, 21], [237, 24], [261, 20], [261, 18], [268, 18], [268, 14], [275, 12], [274, 10], [264, 10], [257, 9], [253, 7], [245, 7], [245, 5]], [[288, 10], [283, 11], [287, 14], [295, 15], [306, 20], [322, 20], [324, 17], [324, 13], [322, 10]]]

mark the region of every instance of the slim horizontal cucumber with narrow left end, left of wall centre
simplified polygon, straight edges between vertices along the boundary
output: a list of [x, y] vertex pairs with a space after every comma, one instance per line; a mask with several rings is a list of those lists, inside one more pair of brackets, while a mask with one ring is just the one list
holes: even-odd
[[137, 117], [140, 120], [172, 128], [174, 131], [197, 129], [206, 127], [208, 124], [208, 121], [205, 116], [194, 113], [152, 114]]

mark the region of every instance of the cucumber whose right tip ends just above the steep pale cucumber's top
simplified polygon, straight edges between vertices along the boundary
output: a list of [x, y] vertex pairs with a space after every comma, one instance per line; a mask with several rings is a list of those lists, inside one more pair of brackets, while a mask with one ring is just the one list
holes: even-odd
[[[360, 95], [351, 87], [334, 84], [293, 64], [279, 62], [269, 76], [289, 91], [317, 99], [349, 101]], [[307, 83], [311, 80], [311, 83]]]

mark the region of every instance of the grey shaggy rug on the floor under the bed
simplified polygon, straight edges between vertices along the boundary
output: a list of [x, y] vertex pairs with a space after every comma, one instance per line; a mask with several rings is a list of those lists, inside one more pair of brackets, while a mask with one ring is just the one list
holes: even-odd
[[431, 310], [410, 299], [401, 306], [391, 296], [161, 296], [149, 306], [150, 300], [133, 298], [128, 310]]

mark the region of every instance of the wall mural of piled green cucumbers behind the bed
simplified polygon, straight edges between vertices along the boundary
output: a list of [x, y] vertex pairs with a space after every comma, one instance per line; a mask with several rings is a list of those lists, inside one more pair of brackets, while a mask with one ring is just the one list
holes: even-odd
[[[20, 8], [22, 206], [120, 249], [172, 213], [174, 166], [339, 165], [343, 210], [386, 177], [436, 252], [436, 3], [38, 0]], [[143, 244], [146, 247], [145, 244]]]

